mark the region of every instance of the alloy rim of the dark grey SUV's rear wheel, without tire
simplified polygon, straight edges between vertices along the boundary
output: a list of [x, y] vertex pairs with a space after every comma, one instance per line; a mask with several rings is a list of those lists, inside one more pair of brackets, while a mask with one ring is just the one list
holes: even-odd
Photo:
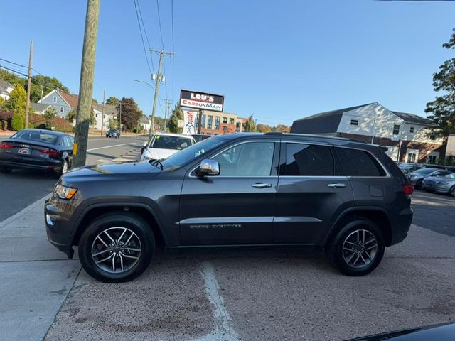
[[343, 242], [343, 259], [355, 269], [368, 266], [378, 253], [378, 240], [366, 229], [351, 232]]

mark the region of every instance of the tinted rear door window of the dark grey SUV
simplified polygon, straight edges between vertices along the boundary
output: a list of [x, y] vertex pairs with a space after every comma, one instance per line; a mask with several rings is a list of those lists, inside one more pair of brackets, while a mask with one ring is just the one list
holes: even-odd
[[286, 163], [280, 166], [280, 175], [330, 176], [334, 173], [333, 156], [328, 146], [286, 144]]

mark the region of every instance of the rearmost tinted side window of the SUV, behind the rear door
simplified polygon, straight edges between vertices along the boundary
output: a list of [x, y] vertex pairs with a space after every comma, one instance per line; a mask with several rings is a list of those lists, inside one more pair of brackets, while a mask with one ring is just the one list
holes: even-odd
[[340, 162], [340, 175], [344, 176], [385, 176], [378, 161], [366, 151], [350, 148], [335, 148]]

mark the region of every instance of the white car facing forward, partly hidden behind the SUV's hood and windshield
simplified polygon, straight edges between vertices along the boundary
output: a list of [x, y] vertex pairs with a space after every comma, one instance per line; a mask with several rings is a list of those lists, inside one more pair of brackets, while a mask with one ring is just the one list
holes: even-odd
[[196, 144], [196, 141], [189, 135], [156, 133], [149, 143], [144, 142], [141, 150], [141, 161], [162, 160], [193, 144]]

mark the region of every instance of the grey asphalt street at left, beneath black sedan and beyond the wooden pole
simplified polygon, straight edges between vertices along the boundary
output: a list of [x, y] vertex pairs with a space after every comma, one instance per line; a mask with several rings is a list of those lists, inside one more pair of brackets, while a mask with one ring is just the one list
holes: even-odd
[[[124, 136], [122, 139], [90, 136], [87, 165], [112, 161], [137, 152], [144, 141], [146, 138], [143, 136]], [[53, 175], [41, 171], [14, 170], [11, 174], [0, 173], [0, 221], [50, 193], [55, 181]]]

